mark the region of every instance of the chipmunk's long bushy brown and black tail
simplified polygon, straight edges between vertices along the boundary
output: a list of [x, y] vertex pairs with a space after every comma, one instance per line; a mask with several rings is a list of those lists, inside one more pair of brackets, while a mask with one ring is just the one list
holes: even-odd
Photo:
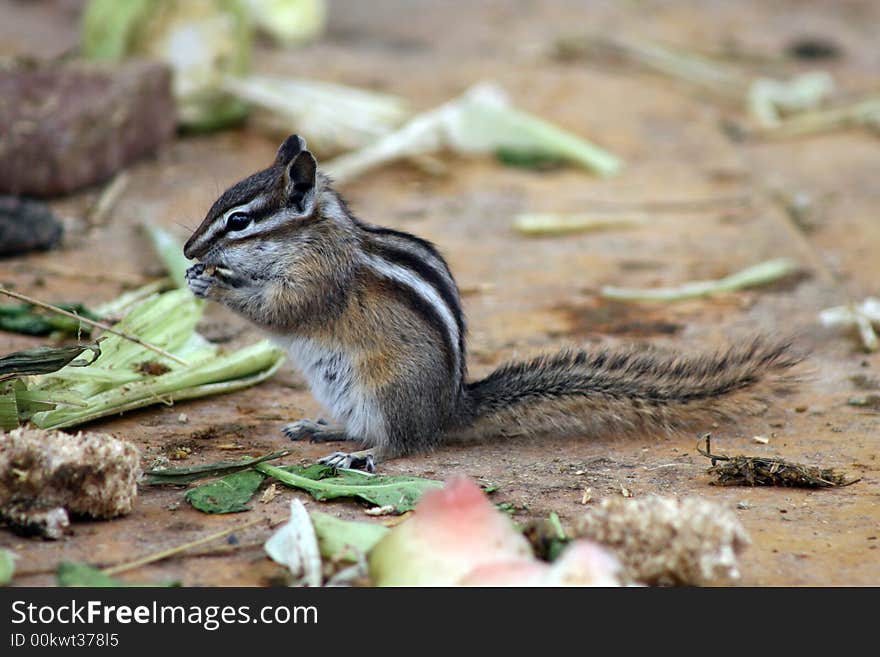
[[466, 392], [467, 435], [543, 431], [587, 435], [708, 426], [754, 412], [796, 379], [791, 342], [754, 338], [724, 352], [562, 351], [502, 365]]

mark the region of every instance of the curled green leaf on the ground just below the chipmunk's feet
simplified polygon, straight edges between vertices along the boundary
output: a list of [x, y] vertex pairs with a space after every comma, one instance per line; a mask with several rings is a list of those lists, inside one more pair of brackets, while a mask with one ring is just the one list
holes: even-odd
[[390, 506], [396, 513], [412, 510], [423, 493], [443, 487], [443, 482], [433, 479], [370, 475], [355, 470], [338, 470], [336, 476], [316, 481], [291, 468], [268, 463], [260, 463], [256, 468], [287, 486], [309, 492], [319, 501], [355, 497], [377, 506]]

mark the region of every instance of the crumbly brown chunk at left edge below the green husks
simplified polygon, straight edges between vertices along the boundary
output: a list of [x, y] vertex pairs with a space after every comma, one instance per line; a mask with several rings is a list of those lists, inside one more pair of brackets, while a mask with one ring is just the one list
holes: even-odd
[[0, 517], [20, 533], [60, 538], [67, 514], [114, 518], [137, 497], [140, 453], [105, 434], [15, 429], [0, 441]]

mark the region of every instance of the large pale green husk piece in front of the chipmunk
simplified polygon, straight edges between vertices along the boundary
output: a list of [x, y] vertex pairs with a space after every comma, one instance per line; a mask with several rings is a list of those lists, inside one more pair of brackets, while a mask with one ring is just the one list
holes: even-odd
[[[232, 392], [264, 381], [278, 370], [284, 355], [268, 340], [229, 352], [196, 333], [205, 302], [185, 288], [189, 263], [167, 232], [149, 228], [148, 233], [172, 280], [182, 287], [157, 293], [167, 281], [152, 283], [95, 312], [101, 316], [127, 312], [113, 326], [116, 331], [136, 336], [185, 364], [109, 333], [100, 338], [100, 347], [9, 354], [0, 358], [0, 429], [28, 421], [43, 429], [72, 427], [156, 403]], [[76, 359], [85, 349], [95, 353], [91, 362]]]

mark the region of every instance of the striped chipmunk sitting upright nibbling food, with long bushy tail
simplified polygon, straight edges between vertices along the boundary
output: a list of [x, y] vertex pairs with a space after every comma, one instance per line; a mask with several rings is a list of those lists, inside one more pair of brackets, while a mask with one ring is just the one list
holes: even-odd
[[566, 350], [467, 380], [465, 320], [430, 242], [355, 217], [297, 135], [270, 167], [226, 190], [184, 247], [198, 297], [243, 315], [285, 348], [340, 422], [300, 420], [292, 440], [383, 458], [517, 433], [681, 430], [748, 410], [789, 381], [788, 341], [750, 339], [691, 356], [626, 347]]

